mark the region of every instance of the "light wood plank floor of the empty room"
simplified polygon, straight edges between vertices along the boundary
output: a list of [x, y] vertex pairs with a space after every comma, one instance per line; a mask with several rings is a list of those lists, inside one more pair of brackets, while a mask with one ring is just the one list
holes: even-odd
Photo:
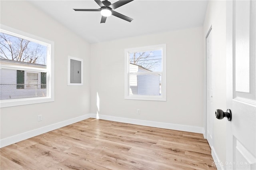
[[202, 134], [86, 119], [3, 147], [1, 170], [216, 169]]

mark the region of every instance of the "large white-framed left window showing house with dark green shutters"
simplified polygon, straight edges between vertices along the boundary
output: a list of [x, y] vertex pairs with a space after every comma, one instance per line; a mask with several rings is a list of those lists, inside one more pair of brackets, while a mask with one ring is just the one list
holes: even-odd
[[1, 25], [0, 106], [54, 101], [54, 42]]

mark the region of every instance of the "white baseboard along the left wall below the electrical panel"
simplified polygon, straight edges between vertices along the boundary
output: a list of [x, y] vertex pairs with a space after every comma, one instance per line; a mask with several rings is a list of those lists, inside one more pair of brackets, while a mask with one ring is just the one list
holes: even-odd
[[37, 128], [37, 129], [34, 129], [34, 130], [30, 130], [28, 132], [24, 132], [24, 133], [21, 133], [21, 134], [10, 136], [8, 138], [1, 139], [0, 140], [0, 148], [2, 148], [4, 146], [8, 146], [10, 144], [14, 144], [16, 142], [20, 142], [20, 141], [28, 139], [28, 138], [32, 138], [32, 137], [37, 136], [39, 134], [43, 134], [43, 133], [46, 133], [46, 132], [49, 132], [49, 131], [52, 131], [52, 130], [55, 130], [55, 129], [58, 129], [58, 128], [61, 128], [61, 127], [64, 127], [64, 126], [67, 126], [67, 125], [70, 125], [70, 124], [73, 124], [73, 123], [76, 123], [76, 122], [79, 122], [79, 121], [82, 121], [82, 120], [85, 120], [85, 119], [88, 119], [88, 118], [93, 117], [93, 116], [94, 115], [92, 115], [92, 114], [82, 115], [80, 117], [75, 117], [75, 118], [72, 118], [72, 119], [68, 119], [66, 121], [62, 121], [62, 122], [59, 122], [59, 123], [48, 125], [46, 127]]

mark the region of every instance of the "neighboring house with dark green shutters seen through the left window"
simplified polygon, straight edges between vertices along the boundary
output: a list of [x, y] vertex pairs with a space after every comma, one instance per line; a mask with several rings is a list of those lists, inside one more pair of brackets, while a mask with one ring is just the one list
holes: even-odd
[[33, 67], [45, 69], [46, 65], [24, 63], [0, 59], [1, 66], [15, 65], [21, 69], [0, 69], [0, 99], [18, 99], [28, 97], [43, 97], [46, 91], [46, 73], [37, 71], [26, 71], [22, 67]]

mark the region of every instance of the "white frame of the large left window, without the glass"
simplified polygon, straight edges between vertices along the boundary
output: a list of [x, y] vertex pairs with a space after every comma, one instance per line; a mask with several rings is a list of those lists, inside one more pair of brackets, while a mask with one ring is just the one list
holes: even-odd
[[[20, 105], [30, 105], [36, 103], [45, 103], [45, 102], [53, 102], [54, 101], [54, 42], [50, 40], [46, 40], [44, 38], [34, 36], [32, 34], [28, 34], [26, 32], [22, 32], [20, 30], [16, 30], [14, 28], [10, 28], [5, 25], [0, 25], [0, 32], [4, 34], [8, 34], [11, 36], [15, 36], [18, 38], [23, 38], [25, 40], [29, 40], [35, 43], [39, 43], [47, 46], [47, 67], [37, 68], [37, 67], [28, 67], [28, 66], [17, 66], [17, 65], [4, 65], [0, 64], [0, 69], [14, 69], [14, 70], [24, 70], [24, 71], [34, 71], [34, 72], [47, 72], [47, 80], [46, 80], [46, 89], [47, 96], [45, 97], [30, 97], [30, 98], [21, 98], [21, 99], [6, 99], [0, 100], [0, 108], [2, 107], [12, 107], [12, 106], [20, 106]], [[39, 76], [39, 75], [38, 75]], [[24, 81], [26, 83], [26, 81]]]

